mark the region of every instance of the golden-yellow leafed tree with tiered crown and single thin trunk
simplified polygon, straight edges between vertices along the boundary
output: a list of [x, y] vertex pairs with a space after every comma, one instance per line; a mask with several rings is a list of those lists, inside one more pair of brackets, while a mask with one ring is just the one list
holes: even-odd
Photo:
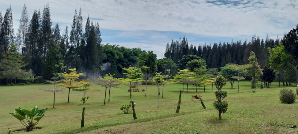
[[60, 86], [63, 86], [65, 88], [69, 89], [67, 102], [69, 102], [70, 89], [79, 88], [79, 87], [82, 87], [84, 84], [89, 83], [85, 80], [76, 81], [77, 79], [79, 79], [79, 76], [83, 75], [83, 73], [77, 73], [77, 71], [75, 71], [75, 70], [76, 70], [76, 68], [71, 68], [71, 69], [69, 69], [69, 71], [71, 71], [70, 73], [62, 73], [64, 75], [65, 80], [63, 80], [62, 83], [59, 83]]

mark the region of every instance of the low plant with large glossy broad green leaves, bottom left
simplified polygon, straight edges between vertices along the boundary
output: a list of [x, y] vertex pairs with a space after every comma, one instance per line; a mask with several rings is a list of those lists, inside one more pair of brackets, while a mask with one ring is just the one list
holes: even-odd
[[[30, 111], [19, 107], [14, 109], [14, 113], [9, 114], [18, 119], [21, 122], [21, 124], [26, 127], [27, 131], [32, 131], [33, 128], [38, 124], [39, 120], [45, 116], [44, 113], [47, 109], [48, 108], [38, 110], [38, 107], [35, 106]], [[24, 119], [26, 119], [27, 122], [25, 122]], [[34, 122], [34, 120], [36, 122]]]

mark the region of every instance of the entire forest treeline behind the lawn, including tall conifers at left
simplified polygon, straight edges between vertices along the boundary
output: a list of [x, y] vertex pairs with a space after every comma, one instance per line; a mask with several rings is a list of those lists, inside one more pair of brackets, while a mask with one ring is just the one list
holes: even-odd
[[[187, 68], [190, 59], [196, 61], [188, 66], [195, 67], [199, 63], [219, 71], [227, 63], [248, 64], [251, 52], [255, 53], [260, 67], [264, 68], [270, 55], [268, 48], [283, 42], [279, 37], [274, 40], [267, 35], [264, 40], [253, 35], [251, 40], [244, 42], [232, 40], [231, 43], [193, 46], [183, 37], [167, 43], [164, 59], [157, 60], [153, 51], [103, 44], [98, 21], [93, 22], [88, 15], [83, 28], [81, 9], [78, 12], [75, 9], [72, 25], [70, 28], [66, 25], [63, 34], [59, 24], [52, 24], [48, 4], [42, 13], [34, 10], [32, 17], [24, 4], [19, 22], [15, 34], [12, 7], [8, 7], [4, 15], [0, 11], [0, 79], [3, 84], [32, 77], [35, 82], [44, 81], [70, 68], [83, 72], [85, 78], [108, 73], [115, 74], [114, 77], [125, 77], [123, 68], [130, 66], [141, 68], [146, 79], [152, 78], [155, 72], [173, 76], [178, 69]], [[294, 69], [291, 74], [295, 72]]]

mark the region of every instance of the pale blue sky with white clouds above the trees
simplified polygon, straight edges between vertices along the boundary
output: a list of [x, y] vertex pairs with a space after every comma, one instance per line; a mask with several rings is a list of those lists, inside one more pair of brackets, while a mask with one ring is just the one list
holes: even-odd
[[282, 37], [298, 24], [297, 0], [0, 0], [4, 16], [10, 5], [17, 32], [26, 4], [33, 11], [49, 4], [53, 26], [69, 32], [75, 9], [99, 21], [103, 43], [153, 51], [163, 58], [167, 42], [185, 36], [189, 44]]

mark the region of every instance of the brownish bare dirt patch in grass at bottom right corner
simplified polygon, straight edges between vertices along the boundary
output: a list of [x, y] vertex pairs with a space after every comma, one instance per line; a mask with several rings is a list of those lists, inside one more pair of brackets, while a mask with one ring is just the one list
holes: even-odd
[[263, 133], [292, 133], [298, 134], [298, 124], [290, 124], [278, 121], [265, 121], [257, 124], [257, 127], [263, 130]]

